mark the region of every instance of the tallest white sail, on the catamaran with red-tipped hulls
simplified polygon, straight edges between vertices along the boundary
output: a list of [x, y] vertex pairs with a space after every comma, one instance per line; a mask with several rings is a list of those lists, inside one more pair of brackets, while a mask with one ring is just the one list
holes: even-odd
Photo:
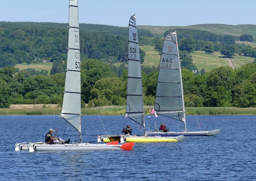
[[68, 60], [61, 117], [81, 135], [81, 76], [78, 2], [69, 0]]

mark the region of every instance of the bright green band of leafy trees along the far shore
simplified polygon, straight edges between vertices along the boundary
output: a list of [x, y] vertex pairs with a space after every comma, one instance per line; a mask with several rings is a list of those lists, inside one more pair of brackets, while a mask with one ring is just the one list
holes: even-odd
[[[183, 55], [189, 57], [189, 54]], [[197, 107], [256, 107], [256, 60], [239, 69], [224, 66], [201, 74], [182, 69], [185, 106]], [[154, 105], [157, 67], [142, 68], [142, 84], [145, 105]], [[144, 72], [145, 71], [145, 72]], [[125, 105], [127, 69], [118, 76], [111, 65], [89, 58], [81, 63], [81, 96], [84, 107]], [[0, 108], [10, 104], [61, 105], [65, 73], [47, 75], [45, 71], [14, 67], [0, 69]]]

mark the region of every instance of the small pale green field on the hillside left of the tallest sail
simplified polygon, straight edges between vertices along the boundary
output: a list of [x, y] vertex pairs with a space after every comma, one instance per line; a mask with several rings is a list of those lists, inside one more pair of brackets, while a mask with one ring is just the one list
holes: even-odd
[[32, 63], [28, 65], [24, 62], [22, 64], [16, 64], [14, 67], [19, 68], [20, 71], [28, 68], [35, 69], [37, 71], [47, 70], [48, 74], [50, 74], [52, 70], [52, 63], [36, 63], [36, 64]]

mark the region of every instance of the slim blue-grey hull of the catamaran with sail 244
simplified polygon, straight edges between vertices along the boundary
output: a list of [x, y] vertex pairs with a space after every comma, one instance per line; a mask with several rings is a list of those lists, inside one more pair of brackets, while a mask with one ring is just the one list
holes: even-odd
[[214, 136], [220, 133], [220, 129], [198, 132], [146, 132], [147, 136]]

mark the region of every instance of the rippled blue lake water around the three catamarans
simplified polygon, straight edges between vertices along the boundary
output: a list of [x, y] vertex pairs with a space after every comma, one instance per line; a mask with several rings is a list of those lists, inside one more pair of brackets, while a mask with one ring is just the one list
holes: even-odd
[[[108, 134], [131, 123], [122, 116], [100, 116]], [[58, 137], [77, 140], [77, 132], [57, 116], [0, 116], [0, 180], [254, 180], [256, 177], [256, 116], [197, 116], [202, 131], [221, 129], [217, 136], [185, 137], [182, 142], [135, 143], [132, 151], [15, 152], [15, 142], [43, 141], [49, 128]], [[187, 116], [189, 131], [199, 131]], [[166, 118], [146, 117], [146, 127], [161, 122], [183, 130]], [[179, 126], [179, 127], [178, 127]], [[140, 132], [139, 132], [140, 131]], [[98, 116], [82, 117], [84, 142], [97, 141], [105, 131]]]

